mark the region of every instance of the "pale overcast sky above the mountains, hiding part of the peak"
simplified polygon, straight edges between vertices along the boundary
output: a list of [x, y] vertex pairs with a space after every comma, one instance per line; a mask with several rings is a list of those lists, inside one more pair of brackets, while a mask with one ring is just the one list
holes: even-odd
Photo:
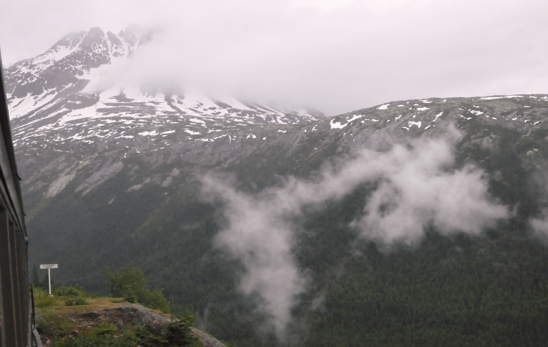
[[0, 1], [4, 64], [135, 23], [159, 31], [134, 73], [328, 115], [548, 93], [546, 0]]

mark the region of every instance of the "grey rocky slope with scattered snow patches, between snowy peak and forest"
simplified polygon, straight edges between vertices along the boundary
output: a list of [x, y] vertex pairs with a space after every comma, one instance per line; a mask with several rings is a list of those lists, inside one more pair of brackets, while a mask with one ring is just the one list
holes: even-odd
[[[375, 147], [383, 141], [391, 143], [402, 136], [438, 134], [448, 123], [464, 130], [486, 124], [530, 135], [544, 129], [546, 103], [545, 95], [398, 101], [308, 124], [225, 126], [191, 136], [181, 124], [170, 128], [144, 123], [137, 124], [142, 127], [121, 126], [123, 121], [115, 122], [113, 118], [123, 116], [117, 115], [95, 127], [79, 125], [84, 132], [97, 132], [95, 138], [104, 137], [100, 141], [89, 140], [88, 135], [70, 127], [52, 127], [47, 138], [21, 131], [14, 134], [14, 141], [24, 194], [35, 196], [27, 197], [29, 206], [38, 197], [54, 197], [69, 183], [74, 194], [86, 195], [124, 172], [126, 192], [147, 184], [167, 188], [185, 168], [226, 168], [256, 157], [261, 159], [249, 169], [271, 166], [271, 174], [282, 173], [284, 165], [294, 165], [295, 161], [328, 157], [323, 153], [333, 147], [336, 153], [349, 152], [363, 146]], [[100, 135], [98, 126], [108, 128], [108, 133]], [[278, 148], [283, 150], [271, 152]], [[288, 160], [294, 153], [301, 158]], [[266, 157], [279, 158], [280, 162], [267, 161]], [[136, 161], [142, 162], [141, 166]], [[140, 170], [146, 170], [146, 174], [140, 175]], [[32, 204], [29, 207], [32, 209]]]

